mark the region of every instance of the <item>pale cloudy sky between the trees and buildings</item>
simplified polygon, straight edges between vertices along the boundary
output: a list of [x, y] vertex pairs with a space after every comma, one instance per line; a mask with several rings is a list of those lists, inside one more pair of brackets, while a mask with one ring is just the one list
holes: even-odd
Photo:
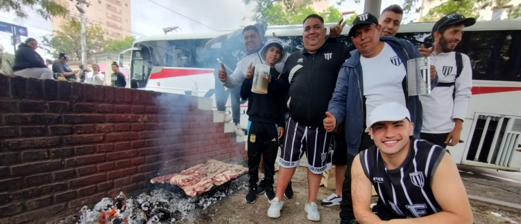
[[[152, 2], [151, 2], [152, 1]], [[382, 9], [392, 5], [402, 5], [404, 0], [381, 0]], [[154, 3], [157, 4], [154, 4]], [[340, 11], [356, 10], [359, 14], [364, 9], [364, 0], [356, 4], [347, 0], [341, 6], [336, 0], [330, 0], [329, 4], [339, 8]], [[246, 6], [242, 0], [132, 0], [131, 22], [134, 36], [163, 34], [163, 27], [178, 26], [179, 33], [213, 32], [215, 30], [235, 29], [251, 21], [253, 5]], [[179, 15], [182, 14], [183, 16]], [[28, 28], [30, 38], [42, 42], [42, 36], [52, 33], [51, 21], [38, 17], [35, 13], [29, 13], [29, 18], [19, 19], [13, 13], [0, 12], [0, 21], [17, 24]], [[175, 32], [175, 31], [174, 31]], [[22, 36], [23, 42], [26, 37]], [[5, 51], [13, 54], [10, 34], [0, 32], [0, 44]], [[41, 48], [36, 50], [43, 58], [52, 59]]]

